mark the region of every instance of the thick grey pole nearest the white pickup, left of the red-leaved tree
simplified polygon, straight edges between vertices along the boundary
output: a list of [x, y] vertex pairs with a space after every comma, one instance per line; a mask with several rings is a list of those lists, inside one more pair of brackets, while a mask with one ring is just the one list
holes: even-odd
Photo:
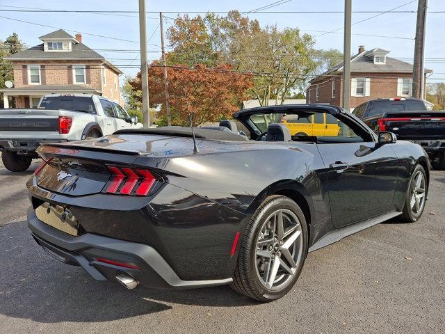
[[150, 126], [147, 73], [147, 24], [145, 18], [145, 0], [139, 0], [139, 44], [140, 44], [140, 80], [142, 89], [142, 113], [144, 127]]

